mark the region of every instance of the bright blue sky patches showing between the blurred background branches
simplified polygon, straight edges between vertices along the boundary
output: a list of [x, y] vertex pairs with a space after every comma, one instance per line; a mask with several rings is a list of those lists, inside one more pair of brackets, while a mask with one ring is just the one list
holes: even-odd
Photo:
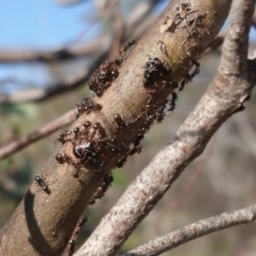
[[[128, 0], [121, 3], [124, 1]], [[154, 14], [159, 15], [167, 3], [162, 1]], [[83, 41], [88, 41], [100, 32], [100, 23], [91, 26], [95, 15], [92, 0], [67, 6], [53, 0], [0, 0], [0, 49], [59, 49], [83, 31]], [[255, 29], [251, 36], [255, 38]], [[0, 93], [22, 88], [20, 84], [1, 83], [6, 78], [41, 86], [49, 76], [42, 65], [0, 63]]]

